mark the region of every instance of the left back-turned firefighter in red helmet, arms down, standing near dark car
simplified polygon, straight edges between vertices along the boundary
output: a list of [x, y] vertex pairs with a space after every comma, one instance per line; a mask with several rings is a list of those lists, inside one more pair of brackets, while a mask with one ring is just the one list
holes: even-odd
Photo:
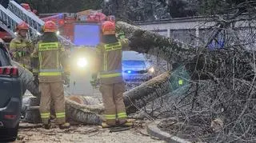
[[50, 129], [50, 102], [53, 101], [56, 123], [59, 125], [59, 129], [68, 129], [70, 124], [66, 122], [62, 81], [65, 51], [58, 41], [57, 25], [54, 22], [46, 22], [42, 30], [42, 38], [31, 55], [32, 58], [38, 59], [39, 90], [41, 91], [39, 110], [42, 123], [45, 129]]

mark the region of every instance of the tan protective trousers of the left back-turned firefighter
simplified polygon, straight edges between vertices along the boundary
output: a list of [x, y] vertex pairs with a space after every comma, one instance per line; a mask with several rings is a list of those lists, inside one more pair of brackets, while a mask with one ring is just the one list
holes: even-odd
[[56, 113], [56, 124], [66, 122], [65, 98], [62, 82], [40, 82], [41, 91], [40, 113], [43, 124], [48, 124], [50, 119], [50, 103], [53, 100]]

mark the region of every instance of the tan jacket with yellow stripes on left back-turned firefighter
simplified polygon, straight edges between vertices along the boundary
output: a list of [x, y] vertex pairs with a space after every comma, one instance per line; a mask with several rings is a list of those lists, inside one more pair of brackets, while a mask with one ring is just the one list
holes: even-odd
[[[65, 50], [60, 42], [38, 42], [31, 57], [40, 82], [62, 81]], [[38, 64], [37, 64], [38, 61]]]

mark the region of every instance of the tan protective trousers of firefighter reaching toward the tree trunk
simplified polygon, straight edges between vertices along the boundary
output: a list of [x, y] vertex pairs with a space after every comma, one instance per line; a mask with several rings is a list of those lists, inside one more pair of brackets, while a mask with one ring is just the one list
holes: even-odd
[[108, 125], [115, 125], [116, 119], [126, 121], [126, 108], [122, 94], [125, 92], [123, 82], [114, 84], [102, 84], [100, 87], [103, 104], [105, 106], [105, 117]]

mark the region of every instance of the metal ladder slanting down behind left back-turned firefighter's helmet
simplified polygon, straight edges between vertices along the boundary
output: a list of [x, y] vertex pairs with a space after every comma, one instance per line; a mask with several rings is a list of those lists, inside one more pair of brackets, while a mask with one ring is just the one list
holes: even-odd
[[[19, 18], [21, 18], [24, 22], [28, 23], [29, 26], [31, 26], [34, 30], [37, 32], [33, 33], [33, 37], [37, 37], [38, 34], [40, 34], [40, 31], [42, 31], [42, 26], [45, 22], [42, 21], [42, 19], [38, 18], [37, 15], [34, 13], [24, 9], [22, 6], [20, 6], [17, 2], [14, 0], [10, 1], [10, 4], [8, 6], [8, 9], [15, 15], [17, 15]], [[61, 35], [58, 35], [58, 38], [60, 42], [62, 42], [65, 46], [74, 46], [74, 43], [70, 42], [70, 40], [67, 40], [66, 38], [63, 38]]]

